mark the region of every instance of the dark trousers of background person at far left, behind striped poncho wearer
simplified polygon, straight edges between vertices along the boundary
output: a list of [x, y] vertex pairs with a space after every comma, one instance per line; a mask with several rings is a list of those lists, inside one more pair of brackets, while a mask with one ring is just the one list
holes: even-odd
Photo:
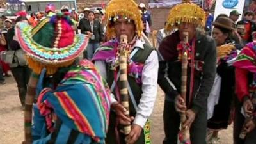
[[11, 72], [18, 86], [20, 103], [24, 106], [31, 70], [28, 66], [18, 66], [11, 68]]

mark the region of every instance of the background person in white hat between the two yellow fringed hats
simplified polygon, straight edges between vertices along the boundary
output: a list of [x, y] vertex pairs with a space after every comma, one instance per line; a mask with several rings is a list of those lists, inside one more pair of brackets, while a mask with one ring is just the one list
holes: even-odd
[[150, 28], [152, 26], [151, 13], [147, 11], [144, 3], [140, 3], [139, 8], [142, 12], [141, 19], [144, 25], [143, 32], [145, 33], [145, 35], [148, 36], [148, 33], [150, 33]]

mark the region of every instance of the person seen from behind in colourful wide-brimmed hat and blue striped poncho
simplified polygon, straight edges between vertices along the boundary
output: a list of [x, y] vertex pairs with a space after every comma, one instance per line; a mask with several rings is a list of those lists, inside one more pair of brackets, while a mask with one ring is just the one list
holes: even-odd
[[[93, 63], [77, 60], [88, 38], [75, 35], [73, 24], [68, 15], [57, 13], [35, 28], [26, 22], [15, 26], [17, 40], [33, 70], [25, 106], [24, 143], [104, 143], [110, 90]], [[38, 100], [33, 105], [31, 128], [35, 95]]]

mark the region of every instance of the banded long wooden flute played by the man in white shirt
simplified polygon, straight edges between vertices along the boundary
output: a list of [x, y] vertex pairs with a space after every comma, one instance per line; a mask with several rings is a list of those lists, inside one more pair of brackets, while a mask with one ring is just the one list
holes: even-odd
[[[127, 35], [120, 36], [120, 44], [127, 44]], [[125, 116], [130, 117], [129, 111], [129, 95], [128, 95], [128, 80], [127, 80], [127, 56], [128, 50], [125, 47], [120, 47], [119, 51], [119, 68], [120, 68], [120, 96], [122, 105], [126, 109]], [[131, 132], [131, 124], [124, 125], [124, 134]]]

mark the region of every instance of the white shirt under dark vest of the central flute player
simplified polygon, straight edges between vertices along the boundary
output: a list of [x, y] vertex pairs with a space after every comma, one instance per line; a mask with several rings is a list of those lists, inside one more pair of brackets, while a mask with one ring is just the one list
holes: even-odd
[[[140, 49], [144, 49], [143, 44], [145, 44], [145, 42], [142, 42], [138, 39], [132, 46], [132, 49], [134, 49], [134, 47], [140, 47]], [[157, 75], [159, 67], [158, 65], [159, 63], [157, 52], [152, 51], [152, 53], [145, 61], [142, 70], [142, 94], [133, 122], [133, 124], [140, 125], [140, 127], [144, 127], [148, 117], [151, 115], [154, 108], [154, 103], [157, 95]], [[105, 61], [95, 61], [95, 66], [99, 69], [101, 76], [106, 79], [107, 74]], [[113, 102], [116, 102], [114, 95], [111, 95], [110, 102], [111, 104], [113, 104]]]

